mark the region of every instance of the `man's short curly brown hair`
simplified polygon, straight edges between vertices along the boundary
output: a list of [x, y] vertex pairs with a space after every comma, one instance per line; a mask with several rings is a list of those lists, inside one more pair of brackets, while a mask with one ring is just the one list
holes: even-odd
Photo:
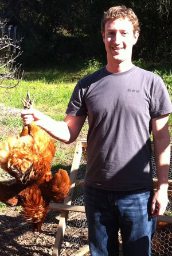
[[133, 32], [136, 31], [139, 32], [139, 21], [138, 17], [135, 15], [134, 11], [130, 8], [127, 8], [126, 6], [114, 6], [107, 10], [107, 12], [104, 12], [104, 16], [101, 20], [101, 31], [104, 32], [105, 23], [108, 20], [111, 20], [112, 18], [128, 18], [129, 21], [131, 21], [133, 25]]

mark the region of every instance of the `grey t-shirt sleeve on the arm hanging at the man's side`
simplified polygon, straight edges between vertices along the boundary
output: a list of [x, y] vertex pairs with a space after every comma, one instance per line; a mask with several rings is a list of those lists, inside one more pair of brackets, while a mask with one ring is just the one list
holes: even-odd
[[169, 92], [165, 83], [159, 77], [155, 82], [151, 95], [150, 115], [151, 118], [163, 116], [172, 112], [172, 105]]

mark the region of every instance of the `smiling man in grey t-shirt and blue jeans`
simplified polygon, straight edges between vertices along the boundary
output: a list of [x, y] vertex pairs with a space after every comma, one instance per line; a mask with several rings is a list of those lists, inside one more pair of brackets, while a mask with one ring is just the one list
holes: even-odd
[[[107, 65], [81, 79], [56, 122], [35, 109], [24, 110], [27, 125], [36, 121], [51, 136], [73, 142], [88, 116], [85, 211], [92, 256], [118, 255], [118, 231], [124, 256], [151, 254], [158, 215], [167, 206], [171, 101], [162, 79], [135, 67], [132, 47], [138, 18], [125, 6], [104, 13], [101, 35]], [[153, 194], [150, 164], [153, 131], [158, 189]]]

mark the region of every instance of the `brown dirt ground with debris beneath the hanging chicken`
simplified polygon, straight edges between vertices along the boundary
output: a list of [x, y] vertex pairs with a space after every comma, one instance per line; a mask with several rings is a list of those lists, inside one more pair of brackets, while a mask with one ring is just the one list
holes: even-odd
[[57, 215], [57, 212], [50, 211], [40, 234], [34, 234], [30, 231], [30, 224], [24, 221], [17, 209], [7, 208], [1, 211], [0, 255], [51, 255], [58, 227]]

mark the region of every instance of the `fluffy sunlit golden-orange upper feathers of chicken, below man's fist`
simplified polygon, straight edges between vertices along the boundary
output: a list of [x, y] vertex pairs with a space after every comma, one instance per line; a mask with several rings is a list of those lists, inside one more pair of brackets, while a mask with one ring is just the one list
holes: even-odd
[[10, 137], [0, 144], [1, 168], [22, 184], [42, 182], [51, 178], [50, 163], [55, 150], [54, 140], [33, 122], [23, 128], [19, 137]]

